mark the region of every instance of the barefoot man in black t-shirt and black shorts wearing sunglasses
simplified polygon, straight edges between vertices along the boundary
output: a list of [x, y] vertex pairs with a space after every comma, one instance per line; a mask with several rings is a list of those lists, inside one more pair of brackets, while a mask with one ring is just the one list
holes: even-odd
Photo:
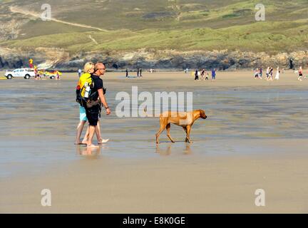
[[[96, 125], [98, 123], [98, 116], [100, 115], [101, 103], [103, 104], [103, 107], [106, 108], [106, 114], [109, 115], [111, 113], [103, 93], [103, 80], [100, 78], [105, 74], [105, 72], [105, 65], [103, 63], [96, 63], [94, 67], [94, 73], [91, 75], [94, 85], [93, 88], [91, 88], [91, 103], [93, 103], [93, 105], [89, 108], [86, 107], [86, 117], [88, 118], [89, 123], [89, 136], [87, 141], [88, 148], [98, 147], [92, 144], [92, 140]], [[101, 100], [101, 103], [98, 102], [98, 98]]]

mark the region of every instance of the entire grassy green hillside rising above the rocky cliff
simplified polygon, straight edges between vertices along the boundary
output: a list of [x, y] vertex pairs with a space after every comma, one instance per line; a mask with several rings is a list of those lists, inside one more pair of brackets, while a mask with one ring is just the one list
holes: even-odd
[[[12, 1], [2, 9], [23, 6], [39, 12], [39, 6], [48, 1], [27, 3]], [[255, 21], [259, 3], [265, 5], [266, 21]], [[31, 18], [21, 26], [22, 36], [2, 41], [0, 46], [70, 52], [155, 48], [278, 53], [308, 49], [307, 0], [53, 0], [49, 4], [56, 19], [109, 31]]]

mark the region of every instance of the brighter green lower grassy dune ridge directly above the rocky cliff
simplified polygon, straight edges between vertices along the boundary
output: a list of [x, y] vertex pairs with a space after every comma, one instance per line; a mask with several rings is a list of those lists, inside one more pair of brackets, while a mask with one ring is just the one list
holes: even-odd
[[[308, 48], [308, 20], [257, 22], [230, 28], [185, 30], [117, 30], [58, 33], [23, 40], [7, 41], [10, 48], [37, 46], [66, 48], [68, 51], [135, 50], [138, 48], [186, 50], [239, 49], [242, 51], [296, 51]], [[94, 38], [98, 45], [91, 38]]]

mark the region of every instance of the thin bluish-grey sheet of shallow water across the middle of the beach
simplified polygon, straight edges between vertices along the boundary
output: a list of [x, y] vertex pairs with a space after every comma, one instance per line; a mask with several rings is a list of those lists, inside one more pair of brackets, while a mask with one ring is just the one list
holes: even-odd
[[[136, 80], [136, 81], [134, 81]], [[113, 110], [103, 113], [103, 138], [111, 141], [99, 150], [89, 151], [73, 145], [78, 124], [75, 102], [76, 78], [54, 80], [3, 80], [0, 82], [0, 177], [41, 172], [48, 165], [71, 160], [120, 157], [148, 159], [157, 155], [229, 155], [234, 153], [274, 152], [275, 145], [263, 140], [307, 139], [308, 92], [290, 87], [222, 86], [201, 87], [190, 83], [130, 79], [106, 79], [107, 100]], [[218, 81], [217, 81], [218, 83]], [[155, 145], [157, 118], [118, 118], [114, 110], [119, 91], [193, 91], [194, 109], [205, 109], [207, 120], [197, 120], [191, 138], [183, 142], [182, 128], [171, 126], [177, 141], [169, 143], [165, 133]]]

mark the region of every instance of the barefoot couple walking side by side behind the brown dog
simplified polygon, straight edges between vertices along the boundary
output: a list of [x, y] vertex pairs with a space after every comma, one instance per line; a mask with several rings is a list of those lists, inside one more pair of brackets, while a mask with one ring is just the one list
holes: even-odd
[[[102, 105], [106, 109], [106, 114], [111, 114], [111, 109], [108, 107], [108, 103], [105, 98], [106, 88], [103, 87], [103, 80], [101, 77], [105, 74], [106, 67], [103, 63], [91, 63], [88, 62], [83, 67], [83, 74], [80, 76], [77, 90], [84, 91], [84, 93], [90, 93], [91, 90], [91, 100], [76, 100], [79, 103], [79, 118], [76, 130], [76, 145], [86, 145], [88, 148], [96, 148], [98, 145], [93, 145], [93, 135], [96, 134], [98, 144], [103, 144], [108, 142], [108, 139], [103, 139], [101, 137], [101, 128], [99, 123], [99, 118], [101, 118], [101, 108]], [[91, 85], [88, 83], [91, 81]], [[89, 87], [89, 90], [88, 90]], [[86, 90], [83, 90], [86, 88]], [[82, 93], [82, 92], [81, 92]], [[81, 134], [83, 128], [88, 122], [88, 129], [86, 130], [86, 135], [83, 140], [81, 140]]]

